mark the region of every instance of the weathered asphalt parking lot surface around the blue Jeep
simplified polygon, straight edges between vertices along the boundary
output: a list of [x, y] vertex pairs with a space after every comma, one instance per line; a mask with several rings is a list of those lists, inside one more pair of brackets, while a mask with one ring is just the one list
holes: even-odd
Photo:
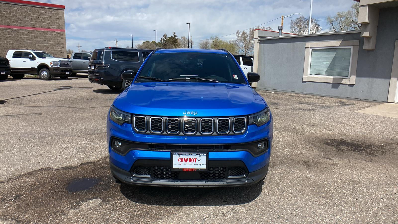
[[268, 175], [246, 188], [130, 187], [109, 172], [120, 91], [87, 76], [0, 81], [0, 223], [398, 223], [398, 119], [364, 102], [258, 90]]

